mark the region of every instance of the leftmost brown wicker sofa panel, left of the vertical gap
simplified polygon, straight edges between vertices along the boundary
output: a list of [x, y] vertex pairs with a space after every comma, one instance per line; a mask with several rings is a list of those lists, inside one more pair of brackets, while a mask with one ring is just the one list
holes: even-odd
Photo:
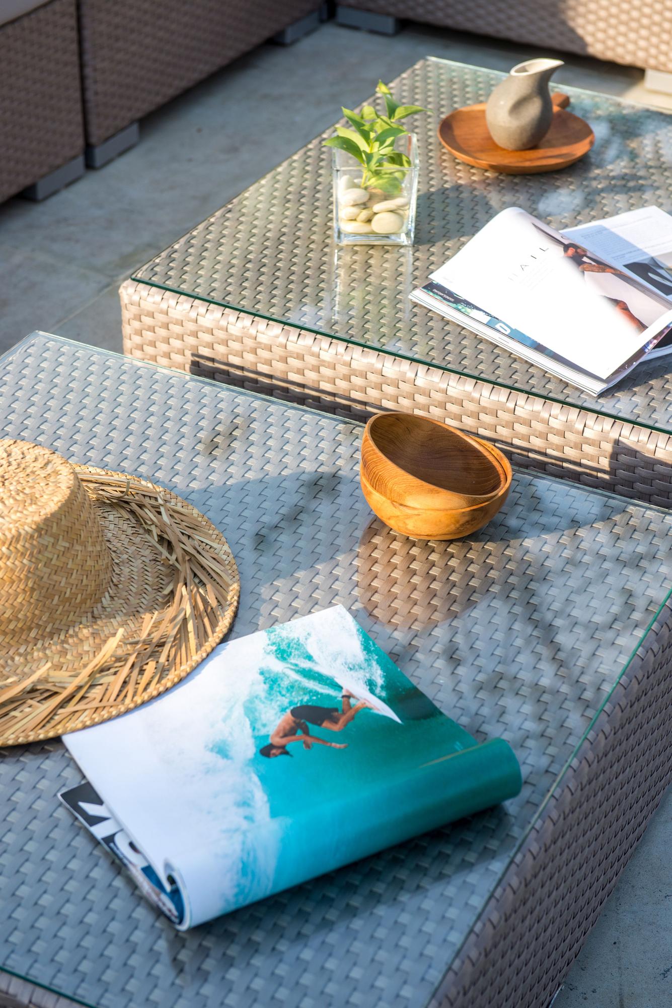
[[83, 151], [75, 0], [0, 28], [0, 203]]

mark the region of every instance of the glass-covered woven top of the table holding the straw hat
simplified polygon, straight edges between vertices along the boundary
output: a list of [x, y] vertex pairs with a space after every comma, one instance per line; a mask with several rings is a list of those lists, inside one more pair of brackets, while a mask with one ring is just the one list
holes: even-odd
[[99, 1008], [421, 1008], [662, 603], [672, 515], [516, 473], [454, 543], [385, 529], [361, 427], [53, 337], [0, 361], [3, 435], [170, 487], [226, 534], [232, 633], [342, 603], [439, 706], [503, 736], [506, 807], [178, 934], [61, 809], [59, 742], [0, 761], [0, 966]]

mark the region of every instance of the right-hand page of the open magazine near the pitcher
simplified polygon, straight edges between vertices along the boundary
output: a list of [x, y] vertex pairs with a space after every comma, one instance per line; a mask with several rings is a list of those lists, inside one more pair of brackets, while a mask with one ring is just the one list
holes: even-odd
[[672, 299], [672, 216], [643, 207], [563, 231]]

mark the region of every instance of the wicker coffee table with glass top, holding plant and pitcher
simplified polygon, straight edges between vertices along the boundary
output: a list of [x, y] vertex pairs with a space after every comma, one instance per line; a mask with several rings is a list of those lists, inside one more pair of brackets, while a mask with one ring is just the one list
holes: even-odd
[[412, 249], [336, 250], [331, 152], [318, 138], [122, 286], [125, 352], [341, 415], [427, 413], [494, 440], [517, 466], [668, 506], [669, 360], [595, 399], [408, 300], [505, 207], [560, 228], [672, 210], [670, 117], [593, 92], [562, 89], [597, 137], [563, 171], [498, 175], [455, 160], [439, 119], [484, 101], [502, 76], [430, 58], [393, 83], [401, 101], [432, 110], [413, 118]]

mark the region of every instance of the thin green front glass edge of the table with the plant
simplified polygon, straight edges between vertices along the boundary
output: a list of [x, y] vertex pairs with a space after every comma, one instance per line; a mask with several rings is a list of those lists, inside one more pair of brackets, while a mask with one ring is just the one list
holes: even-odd
[[[494, 385], [495, 388], [503, 388], [506, 389], [507, 392], [517, 392], [519, 395], [528, 395], [533, 399], [541, 399], [544, 402], [554, 402], [558, 406], [569, 407], [570, 409], [580, 409], [584, 413], [590, 413], [592, 416], [606, 416], [610, 420], [616, 420], [619, 423], [628, 423], [633, 426], [642, 427], [645, 430], [653, 430], [655, 433], [666, 434], [668, 436], [672, 434], [672, 427], [669, 429], [666, 427], [659, 427], [655, 423], [646, 423], [639, 417], [623, 416], [619, 413], [613, 413], [608, 409], [596, 409], [595, 407], [587, 406], [584, 403], [569, 402], [566, 399], [558, 399], [557, 396], [554, 395], [542, 395], [539, 392], [531, 392], [529, 389], [519, 388], [516, 385], [507, 385], [505, 382], [498, 381], [496, 378], [487, 378], [484, 375], [474, 374], [471, 371], [458, 371], [457, 368], [450, 368], [448, 365], [440, 364], [437, 361], [423, 361], [417, 357], [412, 357], [410, 354], [404, 354], [396, 350], [388, 350], [385, 347], [372, 346], [369, 343], [363, 343], [361, 340], [353, 340], [350, 337], [336, 336], [334, 333], [326, 333], [322, 329], [315, 329], [314, 326], [306, 326], [303, 323], [292, 322], [289, 319], [281, 319], [278, 316], [264, 314], [262, 311], [254, 311], [250, 308], [241, 307], [239, 304], [233, 304], [230, 301], [217, 300], [213, 297], [205, 297], [202, 294], [187, 293], [184, 290], [180, 290], [179, 287], [170, 287], [168, 284], [148, 280], [145, 277], [137, 276], [136, 274], [133, 274], [130, 279], [133, 280], [134, 283], [145, 283], [149, 287], [154, 287], [158, 290], [165, 290], [170, 294], [180, 294], [184, 297], [193, 297], [195, 300], [203, 301], [205, 304], [216, 304], [218, 307], [228, 308], [231, 311], [241, 311], [243, 314], [250, 316], [254, 319], [264, 319], [266, 322], [275, 322], [279, 326], [291, 326], [293, 329], [302, 330], [305, 333], [313, 333], [315, 336], [321, 336], [326, 340], [337, 340], [339, 343], [345, 343], [352, 347], [360, 347], [362, 350], [373, 350], [375, 353], [385, 354], [387, 357], [397, 357], [400, 360], [408, 361], [410, 364], [423, 364], [426, 367], [437, 368], [438, 371], [456, 375], [459, 378], [469, 378], [472, 381], [479, 381], [486, 385]], [[113, 352], [114, 351], [111, 351], [111, 353]], [[167, 370], [170, 370], [170, 368]], [[546, 372], [544, 372], [544, 374]]]

